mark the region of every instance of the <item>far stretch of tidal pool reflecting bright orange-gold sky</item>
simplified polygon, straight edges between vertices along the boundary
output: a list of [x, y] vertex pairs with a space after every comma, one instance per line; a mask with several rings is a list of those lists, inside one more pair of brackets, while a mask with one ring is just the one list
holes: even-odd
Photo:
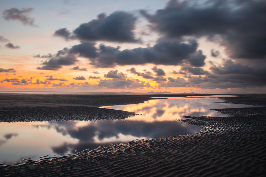
[[[143, 121], [152, 122], [181, 119], [181, 116], [228, 116], [211, 109], [256, 107], [252, 105], [225, 104], [213, 97], [168, 97], [168, 99], [149, 100], [140, 104], [104, 106], [102, 108], [123, 110], [143, 114]], [[134, 118], [130, 118], [134, 120]], [[139, 118], [138, 118], [139, 120]]]

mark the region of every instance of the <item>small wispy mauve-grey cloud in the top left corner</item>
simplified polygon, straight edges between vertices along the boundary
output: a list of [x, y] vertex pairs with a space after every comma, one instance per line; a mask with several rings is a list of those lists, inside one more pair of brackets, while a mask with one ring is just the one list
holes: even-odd
[[19, 10], [18, 8], [11, 8], [3, 11], [3, 18], [5, 20], [18, 20], [24, 25], [36, 26], [34, 24], [34, 18], [28, 17], [28, 13], [31, 12], [33, 8], [23, 8]]

